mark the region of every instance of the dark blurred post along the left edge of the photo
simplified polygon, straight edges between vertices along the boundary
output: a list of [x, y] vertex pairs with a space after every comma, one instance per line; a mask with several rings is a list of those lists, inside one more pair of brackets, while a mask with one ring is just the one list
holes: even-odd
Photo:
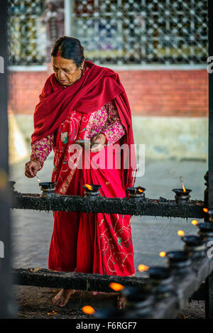
[[0, 318], [11, 318], [11, 248], [8, 180], [8, 119], [7, 119], [7, 0], [0, 11]]

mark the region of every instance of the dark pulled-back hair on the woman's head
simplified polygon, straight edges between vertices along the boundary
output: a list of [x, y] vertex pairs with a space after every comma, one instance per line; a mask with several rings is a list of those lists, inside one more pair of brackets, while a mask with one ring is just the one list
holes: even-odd
[[77, 67], [84, 61], [84, 48], [77, 38], [62, 36], [55, 40], [51, 55], [57, 57], [59, 50], [62, 58], [73, 60]]

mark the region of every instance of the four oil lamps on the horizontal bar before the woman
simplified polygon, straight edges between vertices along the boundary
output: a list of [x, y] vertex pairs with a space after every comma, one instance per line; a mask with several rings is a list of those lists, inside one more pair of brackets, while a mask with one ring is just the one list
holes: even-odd
[[[40, 189], [42, 191], [40, 197], [50, 197], [51, 195], [54, 194], [55, 191], [55, 185], [56, 182], [40, 182]], [[85, 196], [90, 196], [90, 197], [97, 197], [100, 195], [99, 189], [102, 187], [101, 185], [89, 185], [85, 184], [83, 185], [84, 187], [84, 195]], [[145, 191], [146, 188], [138, 186], [138, 187], [127, 187], [126, 188], [126, 196], [127, 197], [132, 197], [135, 199], [140, 199], [140, 200], [146, 200], [145, 197]], [[174, 189], [173, 192], [175, 192], [175, 202], [177, 204], [186, 204], [190, 200], [190, 192], [192, 190], [185, 189], [183, 183], [182, 183], [182, 189]]]

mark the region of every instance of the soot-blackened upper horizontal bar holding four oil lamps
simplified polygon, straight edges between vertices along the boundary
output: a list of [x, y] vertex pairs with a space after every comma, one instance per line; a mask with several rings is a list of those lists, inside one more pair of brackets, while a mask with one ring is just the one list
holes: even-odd
[[197, 219], [204, 217], [203, 202], [200, 200], [191, 200], [188, 204], [176, 204], [175, 200], [138, 200], [128, 197], [90, 199], [77, 195], [55, 195], [43, 199], [38, 194], [21, 194], [16, 191], [13, 192], [11, 208]]

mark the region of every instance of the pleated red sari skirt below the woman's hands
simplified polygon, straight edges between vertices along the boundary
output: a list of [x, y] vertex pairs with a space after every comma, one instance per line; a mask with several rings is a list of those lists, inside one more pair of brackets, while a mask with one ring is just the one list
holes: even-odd
[[[82, 185], [102, 185], [103, 197], [126, 197], [119, 154], [112, 146], [97, 153], [82, 154], [82, 168], [75, 170], [67, 195], [84, 195]], [[113, 168], [108, 168], [106, 161]], [[102, 168], [94, 168], [101, 165]], [[88, 168], [90, 165], [90, 168]], [[91, 167], [93, 166], [93, 168]], [[49, 268], [128, 276], [134, 273], [130, 215], [55, 212], [50, 242]]]

